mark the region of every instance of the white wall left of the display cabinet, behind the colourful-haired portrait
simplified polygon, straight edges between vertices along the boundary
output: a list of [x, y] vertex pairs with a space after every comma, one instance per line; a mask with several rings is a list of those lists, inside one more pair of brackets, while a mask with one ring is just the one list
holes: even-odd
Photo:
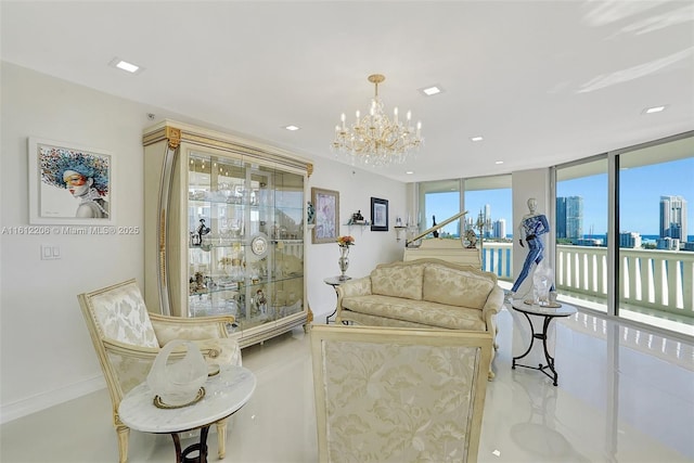
[[[146, 110], [2, 63], [0, 378], [2, 421], [102, 387], [76, 295], [142, 281], [142, 235], [10, 234], [28, 224], [27, 137], [102, 149], [114, 157], [118, 226], [142, 227]], [[65, 194], [69, 194], [65, 191]], [[41, 260], [40, 245], [60, 247]]]

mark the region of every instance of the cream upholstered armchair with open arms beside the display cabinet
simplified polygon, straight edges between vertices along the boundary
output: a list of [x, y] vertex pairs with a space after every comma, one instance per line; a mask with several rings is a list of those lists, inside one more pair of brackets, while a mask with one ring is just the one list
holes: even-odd
[[[120, 463], [128, 460], [130, 429], [120, 422], [118, 406], [124, 395], [146, 380], [160, 347], [175, 338], [189, 339], [197, 344], [209, 363], [241, 364], [239, 344], [227, 334], [233, 317], [182, 319], [150, 313], [134, 280], [77, 298], [111, 394]], [[179, 355], [183, 356], [184, 350]], [[222, 459], [227, 420], [216, 425]]]

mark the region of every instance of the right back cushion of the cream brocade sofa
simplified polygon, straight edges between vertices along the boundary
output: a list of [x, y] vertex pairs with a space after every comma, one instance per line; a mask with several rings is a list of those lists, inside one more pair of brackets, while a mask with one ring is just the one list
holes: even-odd
[[429, 265], [424, 270], [423, 298], [449, 306], [481, 309], [494, 285], [493, 279], [472, 269]]

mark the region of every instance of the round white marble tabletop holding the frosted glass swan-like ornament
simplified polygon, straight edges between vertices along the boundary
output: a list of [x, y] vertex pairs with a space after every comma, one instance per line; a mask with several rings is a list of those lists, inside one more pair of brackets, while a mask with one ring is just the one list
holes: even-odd
[[146, 382], [130, 390], [120, 401], [123, 423], [145, 433], [180, 433], [209, 425], [241, 409], [256, 388], [256, 377], [247, 369], [222, 365], [219, 374], [203, 385], [205, 397], [188, 407], [159, 409]]

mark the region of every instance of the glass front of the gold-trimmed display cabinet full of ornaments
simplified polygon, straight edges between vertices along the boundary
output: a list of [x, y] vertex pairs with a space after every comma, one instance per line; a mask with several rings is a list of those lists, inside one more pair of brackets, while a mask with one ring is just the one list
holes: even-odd
[[304, 177], [228, 157], [188, 159], [189, 317], [245, 330], [304, 310]]

